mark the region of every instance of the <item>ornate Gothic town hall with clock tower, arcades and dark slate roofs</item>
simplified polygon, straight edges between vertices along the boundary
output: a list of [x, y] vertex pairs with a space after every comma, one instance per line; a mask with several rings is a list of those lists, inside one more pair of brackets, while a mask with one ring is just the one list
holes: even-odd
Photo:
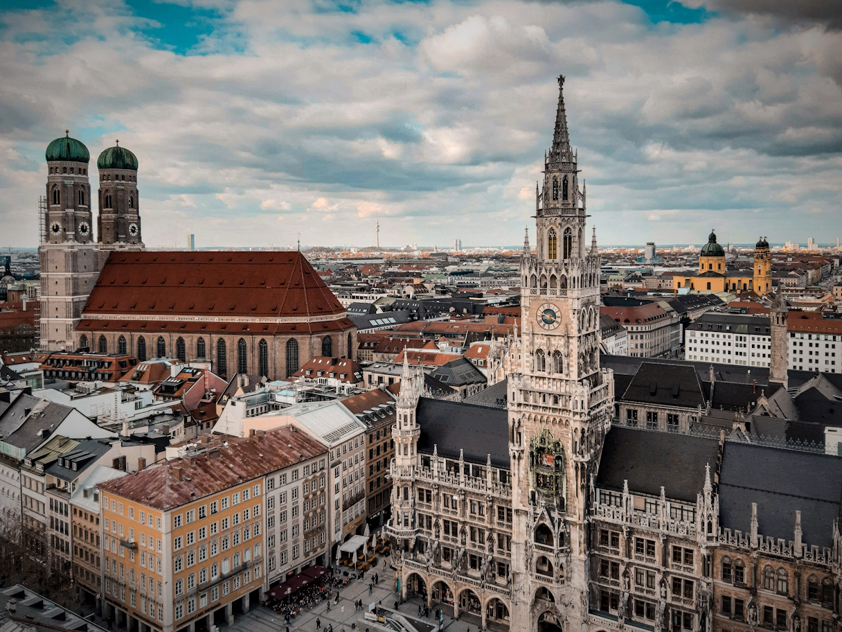
[[[618, 425], [563, 83], [536, 254], [524, 245], [522, 328], [493, 387], [507, 404], [421, 397], [404, 367], [389, 527], [401, 591], [519, 632], [835, 632], [842, 459], [740, 441], [730, 427], [690, 434], [697, 420], [673, 404], [683, 387], [664, 392], [657, 378], [650, 429]], [[773, 327], [786, 342], [786, 311]], [[786, 389], [785, 368], [771, 375], [763, 400]]]

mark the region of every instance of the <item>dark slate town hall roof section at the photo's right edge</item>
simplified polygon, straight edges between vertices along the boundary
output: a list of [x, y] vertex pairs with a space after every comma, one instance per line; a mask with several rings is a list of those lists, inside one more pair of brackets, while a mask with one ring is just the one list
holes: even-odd
[[801, 511], [805, 544], [833, 546], [834, 520], [842, 495], [842, 458], [726, 442], [719, 478], [720, 524], [749, 533], [751, 503], [757, 503], [763, 536], [794, 538]]

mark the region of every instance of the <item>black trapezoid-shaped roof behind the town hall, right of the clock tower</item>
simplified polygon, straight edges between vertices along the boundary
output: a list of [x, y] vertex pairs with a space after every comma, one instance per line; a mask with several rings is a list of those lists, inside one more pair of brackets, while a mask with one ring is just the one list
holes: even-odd
[[643, 362], [622, 399], [684, 408], [705, 405], [705, 394], [693, 367], [662, 362]]

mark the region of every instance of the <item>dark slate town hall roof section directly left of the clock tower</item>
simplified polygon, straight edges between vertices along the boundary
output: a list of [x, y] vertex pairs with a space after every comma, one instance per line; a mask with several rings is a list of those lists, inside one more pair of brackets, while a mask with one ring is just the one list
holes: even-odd
[[509, 420], [504, 409], [477, 406], [443, 399], [418, 400], [418, 452], [432, 454], [438, 446], [440, 457], [486, 463], [488, 454], [495, 467], [509, 469]]

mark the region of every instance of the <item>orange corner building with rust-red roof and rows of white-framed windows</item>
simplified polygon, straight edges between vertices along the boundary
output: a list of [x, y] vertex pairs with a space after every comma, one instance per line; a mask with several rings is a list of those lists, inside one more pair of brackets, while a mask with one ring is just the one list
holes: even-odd
[[248, 613], [266, 587], [267, 475], [326, 451], [287, 426], [100, 484], [104, 616], [204, 632]]

